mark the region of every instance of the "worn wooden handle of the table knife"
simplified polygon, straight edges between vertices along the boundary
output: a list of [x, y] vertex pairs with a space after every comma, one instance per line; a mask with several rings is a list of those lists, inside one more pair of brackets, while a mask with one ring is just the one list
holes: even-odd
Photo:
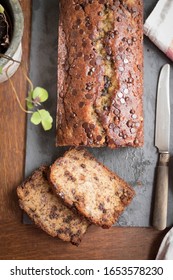
[[169, 153], [159, 155], [156, 173], [153, 226], [158, 230], [165, 229], [167, 225], [169, 157]]

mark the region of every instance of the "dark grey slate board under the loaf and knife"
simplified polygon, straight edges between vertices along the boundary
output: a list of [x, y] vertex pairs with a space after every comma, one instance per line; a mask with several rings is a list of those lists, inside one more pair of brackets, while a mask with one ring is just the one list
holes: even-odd
[[[144, 0], [144, 20], [157, 0]], [[57, 30], [58, 1], [33, 0], [30, 77], [34, 85], [49, 91], [45, 107], [56, 116], [57, 102]], [[163, 64], [171, 64], [171, 107], [173, 107], [173, 67], [171, 61], [144, 37], [144, 130], [143, 148], [88, 149], [111, 170], [129, 182], [136, 191], [136, 197], [120, 217], [119, 226], [151, 226], [157, 150], [154, 147], [154, 121], [158, 74]], [[173, 108], [172, 108], [173, 115]], [[173, 118], [172, 118], [173, 119]], [[172, 122], [173, 128], [173, 122]], [[173, 139], [173, 129], [171, 130]], [[42, 164], [51, 164], [68, 148], [55, 148], [55, 121], [50, 132], [35, 127], [27, 120], [25, 176]], [[171, 141], [171, 155], [173, 142]], [[168, 202], [168, 226], [173, 224], [173, 161], [170, 163], [170, 184]], [[28, 218], [24, 217], [28, 223]]]

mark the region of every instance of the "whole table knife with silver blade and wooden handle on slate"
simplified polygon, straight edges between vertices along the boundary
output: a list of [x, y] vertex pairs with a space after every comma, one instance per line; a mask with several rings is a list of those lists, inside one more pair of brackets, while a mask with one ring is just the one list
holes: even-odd
[[153, 226], [158, 230], [166, 228], [168, 206], [168, 165], [170, 144], [170, 65], [165, 64], [160, 72], [157, 105], [155, 146], [159, 151], [156, 169], [156, 188], [154, 201]]

